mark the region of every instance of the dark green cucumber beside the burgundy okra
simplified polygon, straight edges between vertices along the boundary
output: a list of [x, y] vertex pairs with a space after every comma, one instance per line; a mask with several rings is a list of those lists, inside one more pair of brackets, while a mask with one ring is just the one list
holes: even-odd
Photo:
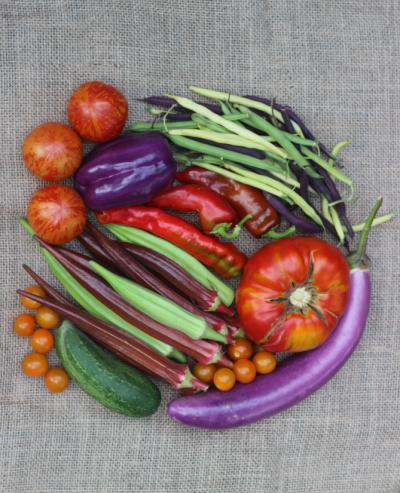
[[150, 416], [160, 405], [158, 388], [65, 320], [55, 333], [65, 371], [100, 404], [126, 416]]

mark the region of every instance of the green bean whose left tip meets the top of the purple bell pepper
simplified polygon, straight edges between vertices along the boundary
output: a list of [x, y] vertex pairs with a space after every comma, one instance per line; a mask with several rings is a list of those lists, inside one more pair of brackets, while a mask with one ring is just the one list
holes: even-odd
[[245, 166], [252, 166], [253, 168], [264, 169], [272, 173], [274, 176], [277, 176], [281, 180], [286, 179], [290, 185], [298, 185], [298, 182], [296, 180], [292, 178], [287, 178], [285, 176], [285, 172], [280, 166], [270, 161], [257, 159], [252, 156], [247, 156], [245, 154], [241, 154], [240, 152], [230, 151], [221, 147], [203, 144], [202, 142], [197, 142], [196, 140], [188, 139], [187, 137], [180, 137], [177, 135], [168, 135], [168, 137], [174, 144], [185, 149], [196, 151], [201, 154], [209, 154], [221, 159], [228, 159], [229, 161], [244, 164]]

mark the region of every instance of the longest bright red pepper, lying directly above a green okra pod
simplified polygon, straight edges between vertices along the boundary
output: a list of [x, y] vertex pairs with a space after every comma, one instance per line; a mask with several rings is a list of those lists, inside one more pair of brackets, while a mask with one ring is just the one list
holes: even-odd
[[238, 276], [247, 261], [233, 243], [221, 243], [206, 236], [193, 224], [156, 207], [115, 207], [96, 214], [103, 223], [116, 223], [143, 229], [187, 251], [212, 267], [222, 277]]

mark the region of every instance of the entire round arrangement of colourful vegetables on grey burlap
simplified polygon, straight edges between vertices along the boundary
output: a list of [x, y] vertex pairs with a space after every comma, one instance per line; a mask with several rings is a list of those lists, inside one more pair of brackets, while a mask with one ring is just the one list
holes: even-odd
[[[380, 199], [349, 221], [347, 141], [329, 150], [274, 100], [189, 89], [211, 101], [147, 97], [153, 121], [121, 134], [127, 100], [87, 82], [68, 103], [73, 129], [50, 122], [26, 137], [33, 174], [74, 178], [37, 191], [21, 219], [70, 299], [24, 265], [36, 284], [18, 293], [36, 313], [14, 330], [34, 350], [23, 372], [51, 392], [70, 377], [113, 411], [149, 416], [160, 405], [151, 377], [183, 394], [173, 419], [229, 428], [296, 404], [350, 357], [370, 302], [368, 234], [393, 215], [377, 217]], [[84, 158], [81, 137], [100, 143]], [[233, 243], [242, 228], [260, 243], [250, 258]], [[87, 254], [64, 246], [73, 239]], [[220, 278], [238, 276], [236, 293]], [[48, 367], [54, 346], [64, 369]], [[277, 363], [276, 352], [294, 355]]]

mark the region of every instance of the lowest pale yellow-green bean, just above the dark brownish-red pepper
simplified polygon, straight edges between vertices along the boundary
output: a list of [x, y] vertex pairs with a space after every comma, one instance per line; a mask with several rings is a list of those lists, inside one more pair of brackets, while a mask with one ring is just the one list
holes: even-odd
[[[315, 223], [323, 227], [321, 218], [316, 213], [315, 209], [308, 204], [303, 197], [293, 191], [291, 188], [287, 187], [281, 182], [269, 178], [268, 176], [260, 176], [252, 171], [244, 170], [238, 166], [232, 166], [228, 164], [222, 164], [225, 169], [221, 167], [214, 166], [212, 164], [204, 163], [204, 161], [193, 160], [192, 164], [199, 166], [209, 171], [214, 171], [220, 175], [226, 176], [227, 178], [232, 178], [240, 183], [245, 183], [246, 185], [253, 186], [260, 190], [264, 190], [277, 197], [291, 199], [295, 204], [297, 204], [303, 212], [309, 216]], [[227, 171], [229, 170], [229, 171]], [[234, 171], [232, 173], [232, 171]]]

